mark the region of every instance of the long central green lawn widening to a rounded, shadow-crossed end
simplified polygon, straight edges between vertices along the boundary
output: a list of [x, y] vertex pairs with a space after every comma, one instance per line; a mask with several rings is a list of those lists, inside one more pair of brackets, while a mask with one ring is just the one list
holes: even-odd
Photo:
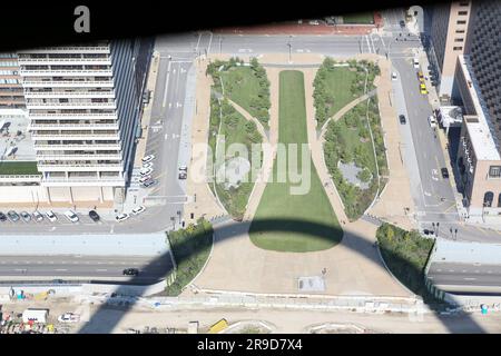
[[[279, 131], [283, 144], [307, 144], [304, 78], [301, 71], [279, 73]], [[301, 154], [301, 151], [299, 151]], [[301, 167], [301, 155], [299, 164]], [[305, 195], [291, 195], [298, 184], [277, 182], [277, 161], [273, 182], [268, 182], [250, 225], [250, 240], [277, 251], [315, 251], [335, 246], [343, 231], [312, 162], [311, 187]]]

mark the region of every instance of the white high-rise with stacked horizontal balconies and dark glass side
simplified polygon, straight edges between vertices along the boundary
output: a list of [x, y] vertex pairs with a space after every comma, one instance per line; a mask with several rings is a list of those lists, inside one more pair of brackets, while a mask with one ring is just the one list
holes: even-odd
[[151, 40], [18, 52], [50, 201], [112, 201], [129, 180]]

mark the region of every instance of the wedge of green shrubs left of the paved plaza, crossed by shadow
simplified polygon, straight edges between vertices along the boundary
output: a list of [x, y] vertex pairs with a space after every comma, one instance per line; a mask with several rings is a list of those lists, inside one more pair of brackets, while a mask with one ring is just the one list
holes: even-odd
[[176, 279], [166, 291], [169, 296], [178, 296], [204, 267], [213, 245], [213, 227], [207, 220], [198, 219], [197, 225], [189, 225], [167, 236], [177, 270]]

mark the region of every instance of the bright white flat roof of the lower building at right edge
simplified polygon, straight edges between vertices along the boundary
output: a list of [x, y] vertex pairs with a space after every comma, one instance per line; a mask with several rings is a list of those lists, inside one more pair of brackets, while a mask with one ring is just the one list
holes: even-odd
[[495, 135], [492, 135], [494, 130], [489, 118], [485, 102], [482, 99], [480, 87], [477, 79], [471, 75], [470, 59], [468, 56], [459, 56], [459, 61], [479, 118], [478, 122], [465, 121], [477, 159], [500, 160], [499, 142]]

